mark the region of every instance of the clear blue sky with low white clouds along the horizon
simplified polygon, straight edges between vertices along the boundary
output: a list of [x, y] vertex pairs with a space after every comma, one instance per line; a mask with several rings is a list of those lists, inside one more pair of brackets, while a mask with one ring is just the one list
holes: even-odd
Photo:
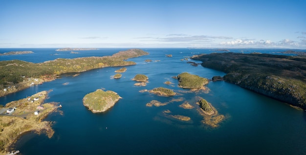
[[306, 0], [0, 0], [0, 48], [306, 49]]

